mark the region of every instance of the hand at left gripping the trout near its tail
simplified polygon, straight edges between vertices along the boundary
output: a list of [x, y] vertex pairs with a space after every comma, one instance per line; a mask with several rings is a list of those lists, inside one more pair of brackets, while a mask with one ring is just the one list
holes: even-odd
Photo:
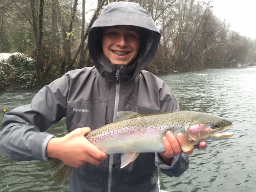
[[80, 167], [87, 162], [98, 165], [107, 154], [91, 144], [85, 137], [90, 128], [78, 128], [61, 138], [52, 138], [47, 145], [48, 158], [58, 158], [68, 166]]

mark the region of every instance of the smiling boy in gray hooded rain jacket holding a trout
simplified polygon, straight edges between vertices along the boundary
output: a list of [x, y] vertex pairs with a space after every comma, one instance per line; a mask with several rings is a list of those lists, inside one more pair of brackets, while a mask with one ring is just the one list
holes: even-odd
[[[45, 86], [31, 104], [8, 112], [0, 134], [0, 150], [16, 160], [58, 158], [74, 167], [69, 177], [71, 192], [158, 192], [158, 169], [180, 176], [188, 168], [188, 155], [168, 132], [166, 151], [142, 153], [120, 168], [120, 154], [107, 156], [84, 135], [111, 123], [118, 111], [138, 113], [179, 110], [170, 88], [143, 71], [154, 57], [160, 32], [138, 4], [110, 3], [89, 33], [89, 51], [95, 67], [73, 70]], [[61, 138], [46, 133], [66, 116], [68, 134]], [[201, 142], [198, 148], [205, 148]], [[173, 157], [174, 156], [174, 157]]]

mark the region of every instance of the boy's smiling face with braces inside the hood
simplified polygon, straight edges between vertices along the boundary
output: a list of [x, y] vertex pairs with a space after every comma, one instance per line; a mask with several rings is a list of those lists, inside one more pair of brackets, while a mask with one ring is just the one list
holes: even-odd
[[103, 53], [112, 64], [128, 65], [140, 48], [139, 27], [120, 25], [105, 27], [102, 35]]

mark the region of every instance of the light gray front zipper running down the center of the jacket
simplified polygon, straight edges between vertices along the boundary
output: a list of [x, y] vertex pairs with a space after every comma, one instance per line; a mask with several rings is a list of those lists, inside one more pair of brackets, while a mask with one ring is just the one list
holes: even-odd
[[[120, 94], [119, 73], [120, 73], [120, 69], [118, 69], [116, 72], [116, 97], [115, 97], [113, 122], [116, 120], [116, 115], [118, 112], [118, 103], [119, 103], [119, 94]], [[114, 155], [111, 154], [109, 156], [109, 165], [108, 165], [108, 192], [111, 192], [111, 187], [112, 187], [113, 158], [114, 158]]]

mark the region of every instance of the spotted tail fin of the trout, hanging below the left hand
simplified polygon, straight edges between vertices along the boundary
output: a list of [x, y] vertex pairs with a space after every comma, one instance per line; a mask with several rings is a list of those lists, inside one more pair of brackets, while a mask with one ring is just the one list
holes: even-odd
[[58, 186], [62, 186], [68, 180], [72, 167], [65, 165], [61, 160], [52, 158], [50, 161], [51, 175]]

